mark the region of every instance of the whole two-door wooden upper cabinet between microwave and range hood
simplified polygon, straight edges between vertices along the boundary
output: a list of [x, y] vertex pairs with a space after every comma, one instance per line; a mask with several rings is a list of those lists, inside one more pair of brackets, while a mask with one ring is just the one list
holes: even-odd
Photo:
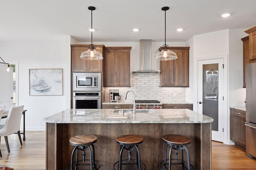
[[130, 87], [130, 50], [132, 47], [104, 49], [104, 87]]

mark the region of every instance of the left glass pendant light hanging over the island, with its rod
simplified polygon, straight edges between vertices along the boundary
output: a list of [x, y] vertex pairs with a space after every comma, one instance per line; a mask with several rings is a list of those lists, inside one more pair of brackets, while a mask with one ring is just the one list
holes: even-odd
[[[88, 10], [91, 11], [91, 21], [92, 21], [92, 11], [94, 11], [96, 8], [94, 6], [89, 6]], [[92, 25], [91, 25], [91, 30], [92, 30]], [[91, 31], [92, 32], [92, 31]], [[100, 54], [98, 51], [95, 50], [95, 46], [91, 43], [89, 45], [88, 51], [84, 51], [81, 56], [81, 59], [85, 60], [102, 60], [102, 54]]]

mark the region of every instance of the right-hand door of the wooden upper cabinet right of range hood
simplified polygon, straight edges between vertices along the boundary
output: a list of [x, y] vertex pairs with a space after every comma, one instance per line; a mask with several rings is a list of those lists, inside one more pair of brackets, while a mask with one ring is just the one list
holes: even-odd
[[178, 59], [174, 60], [175, 67], [175, 86], [188, 87], [188, 68], [189, 68], [189, 54], [188, 50], [175, 50]]

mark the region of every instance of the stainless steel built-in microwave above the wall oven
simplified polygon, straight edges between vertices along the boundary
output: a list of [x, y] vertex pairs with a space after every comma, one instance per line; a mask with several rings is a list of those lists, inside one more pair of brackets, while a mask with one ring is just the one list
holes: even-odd
[[101, 72], [73, 72], [73, 91], [101, 91]]

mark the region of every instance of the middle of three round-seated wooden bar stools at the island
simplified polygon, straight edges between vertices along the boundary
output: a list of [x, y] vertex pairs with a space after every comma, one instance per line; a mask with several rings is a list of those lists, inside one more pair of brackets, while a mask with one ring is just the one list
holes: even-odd
[[[139, 135], [122, 135], [117, 137], [116, 143], [120, 144], [120, 153], [119, 153], [119, 161], [114, 164], [114, 170], [116, 170], [115, 169], [116, 164], [118, 164], [118, 170], [121, 170], [122, 165], [132, 165], [132, 164], [137, 164], [138, 170], [141, 170], [141, 164], [143, 164], [145, 167], [144, 168], [145, 170], [146, 165], [140, 161], [140, 151], [137, 146], [142, 142], [143, 142], [143, 138]], [[128, 159], [122, 160], [122, 152], [124, 149], [128, 150]], [[133, 149], [136, 149], [136, 160], [131, 159], [131, 156], [130, 156], [131, 150]], [[127, 162], [127, 163], [124, 163], [124, 162]]]

